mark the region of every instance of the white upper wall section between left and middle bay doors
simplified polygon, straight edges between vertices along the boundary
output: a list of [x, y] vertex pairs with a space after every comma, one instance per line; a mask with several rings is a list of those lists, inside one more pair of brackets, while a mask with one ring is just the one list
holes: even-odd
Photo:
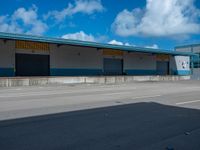
[[77, 46], [50, 46], [51, 68], [103, 68], [102, 51]]

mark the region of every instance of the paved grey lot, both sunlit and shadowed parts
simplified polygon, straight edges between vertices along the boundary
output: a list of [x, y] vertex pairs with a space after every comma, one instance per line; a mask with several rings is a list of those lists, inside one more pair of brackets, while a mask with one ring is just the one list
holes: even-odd
[[0, 149], [199, 150], [199, 91], [199, 81], [1, 88]]

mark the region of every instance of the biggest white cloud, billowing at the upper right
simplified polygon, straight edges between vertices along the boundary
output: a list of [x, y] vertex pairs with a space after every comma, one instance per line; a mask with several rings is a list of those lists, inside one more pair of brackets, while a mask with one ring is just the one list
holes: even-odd
[[176, 36], [200, 32], [194, 0], [147, 0], [146, 8], [123, 10], [112, 28], [120, 36]]

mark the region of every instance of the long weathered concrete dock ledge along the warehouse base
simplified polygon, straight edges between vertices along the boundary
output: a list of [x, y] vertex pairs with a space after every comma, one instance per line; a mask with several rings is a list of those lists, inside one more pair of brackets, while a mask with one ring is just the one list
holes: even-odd
[[101, 77], [18, 77], [0, 78], [0, 87], [40, 86], [47, 84], [116, 84], [134, 81], [179, 81], [190, 76], [101, 76]]

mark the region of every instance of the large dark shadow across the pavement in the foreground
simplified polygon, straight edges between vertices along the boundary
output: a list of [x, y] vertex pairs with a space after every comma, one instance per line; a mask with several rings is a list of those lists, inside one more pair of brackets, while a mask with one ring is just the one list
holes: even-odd
[[199, 150], [200, 110], [136, 103], [0, 122], [1, 150]]

